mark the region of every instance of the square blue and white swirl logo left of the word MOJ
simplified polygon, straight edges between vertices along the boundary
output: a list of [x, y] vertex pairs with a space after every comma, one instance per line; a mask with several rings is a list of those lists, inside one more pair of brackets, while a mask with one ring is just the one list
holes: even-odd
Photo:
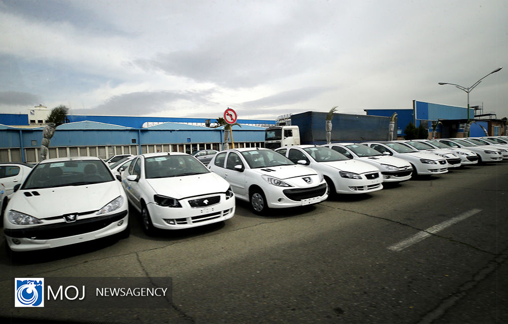
[[14, 307], [44, 307], [44, 278], [15, 278]]

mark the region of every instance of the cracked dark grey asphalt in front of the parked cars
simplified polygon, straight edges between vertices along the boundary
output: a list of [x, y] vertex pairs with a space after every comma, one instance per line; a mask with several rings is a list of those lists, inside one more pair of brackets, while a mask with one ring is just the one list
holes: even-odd
[[[225, 223], [0, 255], [0, 316], [79, 322], [506, 322], [508, 163]], [[402, 250], [390, 246], [479, 210]], [[5, 244], [2, 243], [2, 244]], [[169, 276], [161, 309], [11, 308], [12, 277]]]

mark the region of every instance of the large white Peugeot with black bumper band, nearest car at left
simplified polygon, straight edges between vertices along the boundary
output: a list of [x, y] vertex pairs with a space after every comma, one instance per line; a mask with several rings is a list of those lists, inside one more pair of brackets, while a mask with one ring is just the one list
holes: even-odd
[[4, 215], [12, 251], [129, 236], [125, 191], [98, 157], [46, 159], [15, 189]]

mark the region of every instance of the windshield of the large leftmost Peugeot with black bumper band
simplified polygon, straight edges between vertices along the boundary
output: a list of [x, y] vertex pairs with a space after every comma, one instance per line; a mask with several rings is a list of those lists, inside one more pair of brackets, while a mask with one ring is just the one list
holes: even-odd
[[113, 175], [102, 161], [58, 161], [38, 164], [21, 189], [79, 186], [113, 180]]

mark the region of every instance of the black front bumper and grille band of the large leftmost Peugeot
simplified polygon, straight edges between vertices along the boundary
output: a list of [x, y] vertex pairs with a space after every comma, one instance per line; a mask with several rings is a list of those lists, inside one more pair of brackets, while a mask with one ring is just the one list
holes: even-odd
[[4, 233], [13, 238], [29, 238], [34, 240], [51, 240], [74, 235], [95, 232], [105, 228], [113, 222], [119, 221], [128, 211], [87, 219], [78, 219], [72, 223], [56, 223], [33, 226], [27, 229], [5, 229]]

